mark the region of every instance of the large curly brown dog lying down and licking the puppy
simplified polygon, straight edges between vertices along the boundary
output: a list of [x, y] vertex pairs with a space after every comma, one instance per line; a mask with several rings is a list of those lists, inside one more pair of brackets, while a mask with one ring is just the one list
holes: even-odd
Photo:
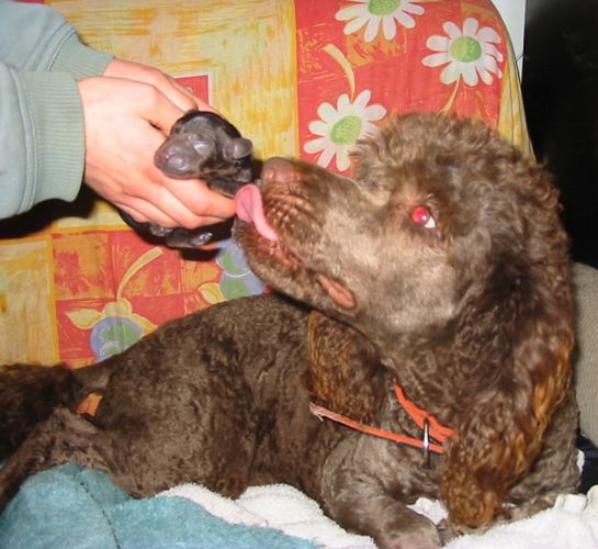
[[[0, 472], [0, 504], [67, 460], [134, 495], [286, 482], [380, 547], [426, 549], [440, 536], [407, 507], [419, 496], [459, 531], [576, 489], [567, 238], [541, 166], [481, 123], [413, 114], [360, 143], [352, 178], [270, 159], [262, 180], [248, 217], [263, 212], [278, 239], [258, 222], [236, 237], [258, 276], [313, 309], [236, 300], [74, 371], [71, 393], [103, 391], [93, 423], [63, 400]], [[429, 468], [309, 413], [314, 400], [420, 438], [394, 380], [454, 432]], [[27, 386], [5, 386], [10, 412]]]

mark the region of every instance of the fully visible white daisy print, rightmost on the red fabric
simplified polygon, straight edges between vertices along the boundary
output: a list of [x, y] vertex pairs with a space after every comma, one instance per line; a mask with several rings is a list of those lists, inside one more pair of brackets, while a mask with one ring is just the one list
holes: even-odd
[[449, 85], [461, 77], [469, 86], [476, 86], [478, 79], [493, 83], [493, 75], [503, 77], [498, 64], [504, 56], [496, 46], [500, 43], [498, 33], [489, 26], [479, 29], [476, 19], [467, 18], [463, 29], [451, 21], [442, 25], [445, 36], [430, 36], [426, 45], [436, 52], [421, 59], [426, 67], [447, 65], [440, 74], [440, 81]]

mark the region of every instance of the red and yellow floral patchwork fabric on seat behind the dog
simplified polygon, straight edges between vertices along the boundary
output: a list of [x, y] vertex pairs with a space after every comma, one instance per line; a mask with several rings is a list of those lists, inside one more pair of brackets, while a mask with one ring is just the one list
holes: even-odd
[[[529, 149], [489, 0], [46, 3], [91, 46], [179, 77], [261, 158], [347, 172], [358, 138], [414, 110], [476, 116]], [[38, 229], [52, 205], [0, 226], [2, 362], [95, 362], [170, 318], [264, 290], [229, 239], [181, 255], [143, 240], [109, 204], [82, 202]]]

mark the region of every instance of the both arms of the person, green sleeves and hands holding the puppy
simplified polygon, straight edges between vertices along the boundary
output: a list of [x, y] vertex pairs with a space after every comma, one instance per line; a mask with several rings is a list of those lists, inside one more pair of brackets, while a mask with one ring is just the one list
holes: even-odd
[[[0, 0], [0, 53], [10, 60], [0, 65], [0, 217], [49, 198], [74, 200], [83, 170], [137, 221], [194, 227], [230, 216], [230, 200], [199, 180], [166, 178], [153, 163], [196, 98], [159, 70], [84, 46], [42, 8]], [[92, 78], [102, 72], [110, 78]]]

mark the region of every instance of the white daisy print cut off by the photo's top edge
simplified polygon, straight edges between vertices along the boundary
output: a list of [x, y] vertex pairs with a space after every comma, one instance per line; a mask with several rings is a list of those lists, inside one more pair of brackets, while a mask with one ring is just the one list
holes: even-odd
[[347, 5], [336, 14], [338, 21], [349, 21], [345, 34], [352, 34], [365, 26], [363, 38], [372, 42], [379, 34], [380, 26], [386, 40], [396, 36], [396, 24], [413, 29], [411, 15], [421, 15], [424, 8], [411, 0], [351, 0], [356, 5]]

